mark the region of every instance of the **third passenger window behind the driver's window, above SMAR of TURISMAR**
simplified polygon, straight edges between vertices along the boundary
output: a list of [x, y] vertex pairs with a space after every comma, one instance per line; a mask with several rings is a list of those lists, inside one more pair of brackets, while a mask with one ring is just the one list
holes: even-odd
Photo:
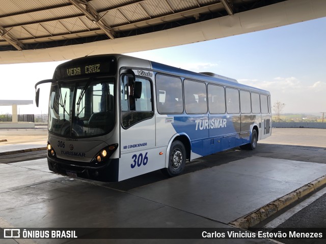
[[212, 114], [225, 113], [225, 92], [223, 86], [208, 85], [208, 107]]

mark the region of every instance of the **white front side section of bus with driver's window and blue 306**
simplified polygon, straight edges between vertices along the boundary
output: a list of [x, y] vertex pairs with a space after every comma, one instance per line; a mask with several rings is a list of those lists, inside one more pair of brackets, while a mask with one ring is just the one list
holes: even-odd
[[[165, 165], [159, 160], [159, 148], [155, 148], [155, 116], [152, 99], [152, 83], [136, 78], [139, 93], [132, 94], [126, 79], [121, 80], [121, 131], [119, 181], [148, 173]], [[133, 101], [132, 101], [133, 100]]]

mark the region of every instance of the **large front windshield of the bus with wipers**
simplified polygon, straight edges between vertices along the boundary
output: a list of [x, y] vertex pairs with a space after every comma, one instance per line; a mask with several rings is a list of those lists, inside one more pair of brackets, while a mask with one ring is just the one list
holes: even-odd
[[113, 78], [52, 83], [48, 129], [73, 138], [103, 135], [114, 127], [114, 111]]

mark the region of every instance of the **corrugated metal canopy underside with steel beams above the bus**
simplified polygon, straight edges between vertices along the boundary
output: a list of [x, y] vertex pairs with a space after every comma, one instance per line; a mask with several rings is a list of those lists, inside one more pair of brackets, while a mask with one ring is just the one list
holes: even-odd
[[[226, 16], [225, 4], [236, 12], [260, 7], [268, 1], [223, 2], [222, 5], [220, 0], [0, 0], [0, 51], [71, 45], [67, 40], [78, 44], [140, 35]], [[47, 44], [39, 45], [43, 42]]]

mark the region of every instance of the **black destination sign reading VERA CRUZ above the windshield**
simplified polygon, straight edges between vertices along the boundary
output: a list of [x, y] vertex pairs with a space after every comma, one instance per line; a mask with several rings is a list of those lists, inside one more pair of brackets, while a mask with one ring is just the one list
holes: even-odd
[[60, 65], [53, 79], [62, 80], [94, 74], [114, 75], [115, 73], [116, 60], [113, 56], [85, 57]]

